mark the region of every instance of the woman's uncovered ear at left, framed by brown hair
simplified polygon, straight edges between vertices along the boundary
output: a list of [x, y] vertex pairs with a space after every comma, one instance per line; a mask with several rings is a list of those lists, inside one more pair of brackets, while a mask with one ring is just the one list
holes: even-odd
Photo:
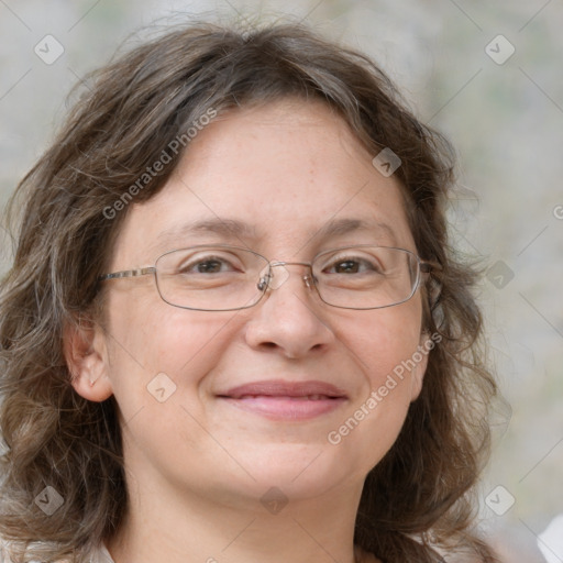
[[113, 389], [108, 377], [106, 335], [99, 324], [80, 317], [63, 329], [63, 352], [70, 372], [70, 383], [85, 399], [101, 402]]

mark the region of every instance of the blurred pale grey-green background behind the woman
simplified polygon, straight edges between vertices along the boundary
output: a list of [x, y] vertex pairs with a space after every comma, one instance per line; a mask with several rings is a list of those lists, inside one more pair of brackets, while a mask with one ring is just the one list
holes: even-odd
[[0, 0], [0, 203], [70, 88], [131, 33], [284, 14], [372, 55], [456, 146], [452, 236], [486, 267], [490, 360], [511, 407], [495, 421], [482, 526], [506, 562], [563, 562], [563, 530], [539, 538], [563, 514], [562, 0]]

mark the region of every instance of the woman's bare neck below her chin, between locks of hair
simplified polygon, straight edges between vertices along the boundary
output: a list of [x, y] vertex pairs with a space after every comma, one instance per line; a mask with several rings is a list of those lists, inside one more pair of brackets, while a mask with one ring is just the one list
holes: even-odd
[[137, 481], [107, 547], [115, 563], [354, 563], [360, 494], [361, 486], [349, 484], [316, 498], [286, 499], [272, 490], [263, 503], [235, 501], [224, 493], [221, 499], [178, 495]]

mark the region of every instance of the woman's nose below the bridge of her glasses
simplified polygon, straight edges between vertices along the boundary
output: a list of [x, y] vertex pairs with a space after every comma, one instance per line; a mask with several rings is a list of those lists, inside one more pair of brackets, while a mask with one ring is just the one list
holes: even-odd
[[[300, 267], [300, 276], [290, 276], [287, 266]], [[273, 262], [262, 301], [250, 309], [246, 324], [246, 343], [256, 350], [273, 350], [289, 358], [303, 357], [311, 352], [327, 349], [334, 334], [318, 303], [312, 273], [303, 272], [306, 263]]]

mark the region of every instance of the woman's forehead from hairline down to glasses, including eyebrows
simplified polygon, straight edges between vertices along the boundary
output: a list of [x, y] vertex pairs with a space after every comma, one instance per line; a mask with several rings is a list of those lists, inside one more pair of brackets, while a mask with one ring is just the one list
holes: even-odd
[[197, 134], [155, 197], [130, 207], [114, 262], [207, 242], [287, 253], [361, 236], [412, 247], [400, 186], [372, 157], [324, 103], [232, 110]]

